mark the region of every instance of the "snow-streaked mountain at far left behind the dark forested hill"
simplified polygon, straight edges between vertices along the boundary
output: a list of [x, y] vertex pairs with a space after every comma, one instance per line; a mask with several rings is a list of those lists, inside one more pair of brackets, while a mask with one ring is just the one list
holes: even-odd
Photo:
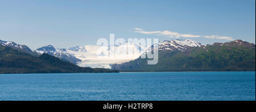
[[25, 53], [35, 55], [33, 53], [33, 51], [30, 48], [28, 48], [28, 46], [26, 46], [26, 45], [19, 45], [19, 44], [16, 44], [15, 42], [2, 41], [2, 40], [0, 40], [0, 45], [9, 46], [11, 48], [14, 48], [14, 49], [17, 49], [17, 50], [21, 50], [21, 51], [23, 51]]

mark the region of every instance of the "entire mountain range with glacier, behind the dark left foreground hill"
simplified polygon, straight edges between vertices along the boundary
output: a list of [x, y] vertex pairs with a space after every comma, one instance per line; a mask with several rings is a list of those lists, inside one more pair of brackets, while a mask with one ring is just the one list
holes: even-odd
[[0, 40], [0, 45], [31, 55], [49, 54], [80, 67], [112, 68], [119, 71], [255, 71], [255, 44], [246, 41], [202, 45], [186, 39], [159, 41], [157, 44], [158, 63], [148, 65], [150, 59], [140, 57], [151, 48], [142, 49], [141, 45], [134, 43], [115, 45], [115, 50], [129, 47], [134, 48], [136, 54], [127, 53], [109, 58], [108, 54], [115, 53], [110, 46], [75, 45], [59, 49], [47, 45], [32, 51], [26, 45]]

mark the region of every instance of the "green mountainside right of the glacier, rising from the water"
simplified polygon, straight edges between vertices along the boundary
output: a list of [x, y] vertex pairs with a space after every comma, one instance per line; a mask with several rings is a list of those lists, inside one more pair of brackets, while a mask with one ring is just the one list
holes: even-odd
[[159, 60], [155, 65], [148, 65], [148, 59], [138, 58], [113, 64], [112, 68], [121, 71], [255, 71], [255, 45], [249, 42], [186, 45], [184, 49], [168, 43], [170, 46], [159, 42]]

